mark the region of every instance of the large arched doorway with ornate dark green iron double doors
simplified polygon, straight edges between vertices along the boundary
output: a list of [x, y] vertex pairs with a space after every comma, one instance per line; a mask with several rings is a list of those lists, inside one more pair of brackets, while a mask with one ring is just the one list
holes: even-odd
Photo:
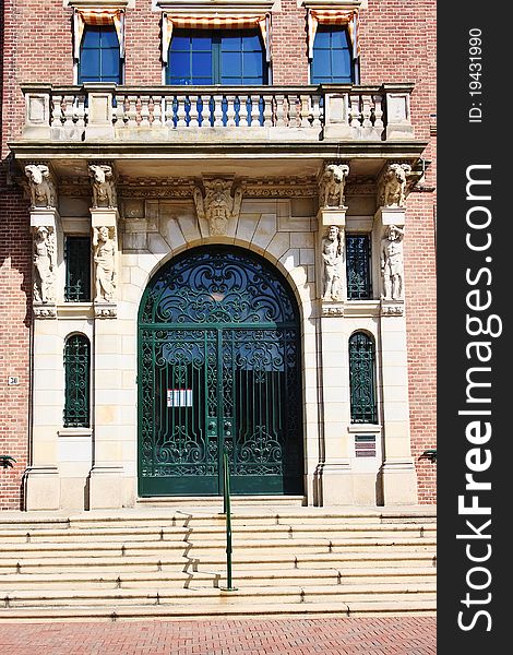
[[195, 248], [150, 282], [139, 312], [139, 493], [302, 493], [299, 311], [264, 259]]

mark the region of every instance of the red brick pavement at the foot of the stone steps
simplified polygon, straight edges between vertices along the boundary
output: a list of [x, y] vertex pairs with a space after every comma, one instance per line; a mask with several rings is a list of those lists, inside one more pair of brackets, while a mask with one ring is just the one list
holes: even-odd
[[3, 623], [5, 655], [434, 655], [436, 619]]

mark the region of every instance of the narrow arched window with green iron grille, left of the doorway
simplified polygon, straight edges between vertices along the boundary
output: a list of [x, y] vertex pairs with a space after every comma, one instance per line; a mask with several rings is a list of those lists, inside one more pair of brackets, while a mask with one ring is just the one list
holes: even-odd
[[84, 334], [64, 344], [64, 428], [90, 427], [91, 345]]

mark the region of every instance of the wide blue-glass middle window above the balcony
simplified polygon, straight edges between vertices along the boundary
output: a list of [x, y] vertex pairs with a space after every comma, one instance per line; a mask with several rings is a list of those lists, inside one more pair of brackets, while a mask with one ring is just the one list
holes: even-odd
[[258, 31], [176, 29], [169, 46], [166, 83], [267, 84], [267, 64]]

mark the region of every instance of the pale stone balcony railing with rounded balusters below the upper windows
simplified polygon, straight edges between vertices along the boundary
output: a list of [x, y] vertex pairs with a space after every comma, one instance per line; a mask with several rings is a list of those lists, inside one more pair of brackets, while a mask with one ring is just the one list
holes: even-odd
[[411, 84], [23, 85], [31, 141], [318, 141], [413, 138]]

